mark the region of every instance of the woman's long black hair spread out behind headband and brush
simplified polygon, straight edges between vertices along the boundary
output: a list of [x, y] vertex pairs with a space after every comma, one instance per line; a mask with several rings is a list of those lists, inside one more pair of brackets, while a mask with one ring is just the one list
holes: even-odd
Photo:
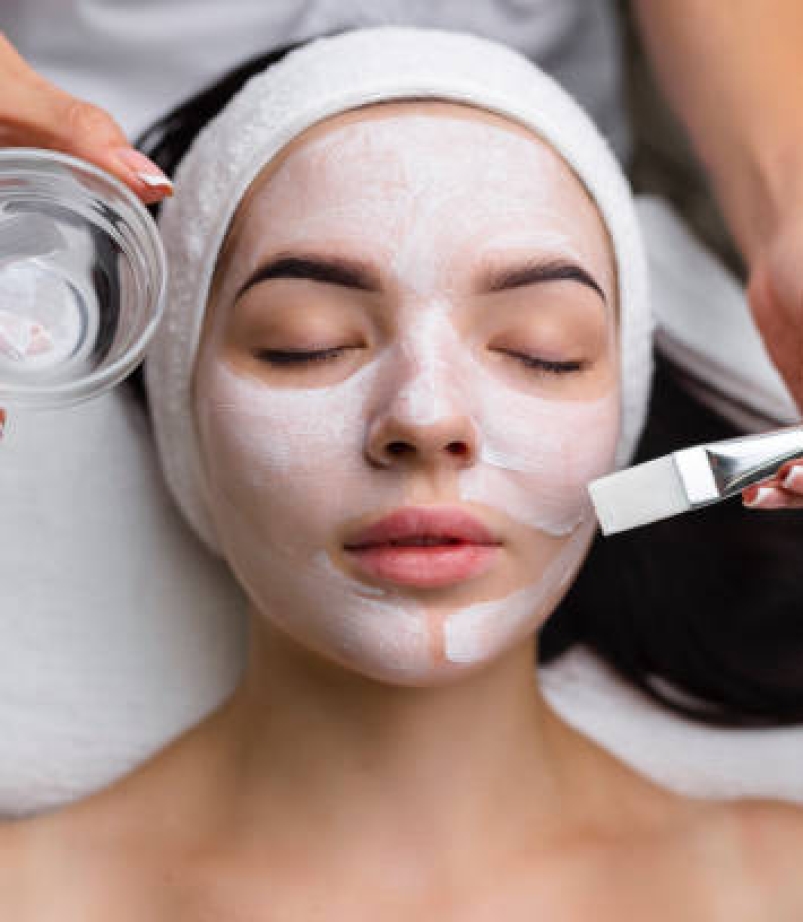
[[[172, 175], [187, 148], [251, 77], [259, 55], [178, 106], [138, 146]], [[685, 391], [660, 356], [636, 460], [737, 435]], [[133, 382], [144, 400], [141, 377]], [[577, 643], [671, 710], [711, 724], [803, 721], [803, 514], [738, 501], [598, 537], [541, 631], [550, 662]]]

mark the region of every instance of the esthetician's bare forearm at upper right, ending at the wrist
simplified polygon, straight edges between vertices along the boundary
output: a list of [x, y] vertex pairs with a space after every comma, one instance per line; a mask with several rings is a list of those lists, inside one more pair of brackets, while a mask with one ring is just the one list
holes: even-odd
[[748, 262], [803, 208], [803, 0], [633, 0]]

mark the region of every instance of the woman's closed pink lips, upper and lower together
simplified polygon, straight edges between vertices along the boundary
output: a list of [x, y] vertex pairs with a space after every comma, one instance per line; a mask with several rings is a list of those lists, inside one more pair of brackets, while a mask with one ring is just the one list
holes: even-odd
[[500, 546], [462, 509], [413, 506], [380, 519], [345, 548], [374, 577], [434, 589], [478, 576], [493, 563]]

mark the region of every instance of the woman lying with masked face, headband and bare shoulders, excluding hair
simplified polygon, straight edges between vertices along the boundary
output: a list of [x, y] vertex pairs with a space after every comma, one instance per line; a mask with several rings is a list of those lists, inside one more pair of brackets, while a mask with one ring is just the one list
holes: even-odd
[[248, 663], [122, 780], [0, 830], [0, 915], [803, 913], [799, 808], [664, 791], [534, 680], [650, 377], [632, 202], [574, 102], [471, 36], [319, 40], [198, 135], [162, 228], [150, 411]]

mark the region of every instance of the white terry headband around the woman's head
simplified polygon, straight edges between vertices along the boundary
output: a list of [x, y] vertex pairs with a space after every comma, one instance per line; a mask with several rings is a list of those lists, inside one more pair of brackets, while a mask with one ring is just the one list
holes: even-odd
[[212, 550], [217, 541], [191, 385], [229, 223], [257, 174], [302, 131], [348, 109], [402, 99], [465, 103], [505, 116], [545, 139], [577, 173], [607, 225], [616, 259], [622, 367], [617, 465], [635, 448], [652, 372], [646, 261], [627, 180], [590, 118], [518, 52], [475, 36], [380, 27], [318, 39], [253, 77], [200, 132], [160, 222], [170, 278], [146, 383], [168, 485]]

